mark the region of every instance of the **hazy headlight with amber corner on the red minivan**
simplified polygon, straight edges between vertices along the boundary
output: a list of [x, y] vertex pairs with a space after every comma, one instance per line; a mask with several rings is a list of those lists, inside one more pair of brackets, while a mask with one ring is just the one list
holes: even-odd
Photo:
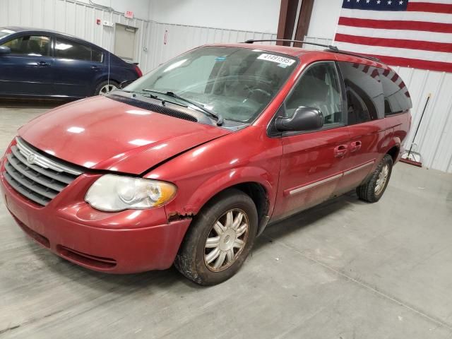
[[141, 210], [163, 205], [176, 191], [167, 182], [105, 174], [88, 189], [85, 201], [97, 210]]

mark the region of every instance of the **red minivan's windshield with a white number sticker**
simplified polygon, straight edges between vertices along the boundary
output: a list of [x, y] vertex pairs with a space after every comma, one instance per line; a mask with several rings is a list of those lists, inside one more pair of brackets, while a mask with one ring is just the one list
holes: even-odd
[[[182, 54], [124, 90], [172, 92], [218, 114], [248, 123], [273, 100], [297, 62], [259, 49], [200, 47]], [[154, 93], [155, 94], [155, 93]], [[174, 99], [174, 97], [173, 97]]]

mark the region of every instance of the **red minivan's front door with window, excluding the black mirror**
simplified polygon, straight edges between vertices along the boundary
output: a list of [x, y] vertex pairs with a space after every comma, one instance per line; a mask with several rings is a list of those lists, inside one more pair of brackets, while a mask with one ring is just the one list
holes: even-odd
[[308, 66], [285, 101], [285, 116], [300, 106], [323, 113], [323, 128], [283, 134], [275, 220], [330, 198], [343, 175], [349, 147], [338, 71], [333, 61]]

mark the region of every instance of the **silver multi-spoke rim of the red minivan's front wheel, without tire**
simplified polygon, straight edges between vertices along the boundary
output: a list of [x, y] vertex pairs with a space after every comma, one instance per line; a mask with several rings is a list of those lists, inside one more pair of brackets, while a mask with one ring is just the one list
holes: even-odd
[[231, 266], [242, 253], [248, 232], [249, 220], [243, 210], [234, 208], [223, 214], [206, 240], [204, 262], [208, 269], [220, 272]]

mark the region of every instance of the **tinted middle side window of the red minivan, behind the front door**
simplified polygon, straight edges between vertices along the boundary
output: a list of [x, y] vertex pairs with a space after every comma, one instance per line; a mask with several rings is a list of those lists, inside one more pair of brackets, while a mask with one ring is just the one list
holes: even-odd
[[340, 62], [347, 95], [348, 124], [383, 117], [383, 89], [376, 67]]

